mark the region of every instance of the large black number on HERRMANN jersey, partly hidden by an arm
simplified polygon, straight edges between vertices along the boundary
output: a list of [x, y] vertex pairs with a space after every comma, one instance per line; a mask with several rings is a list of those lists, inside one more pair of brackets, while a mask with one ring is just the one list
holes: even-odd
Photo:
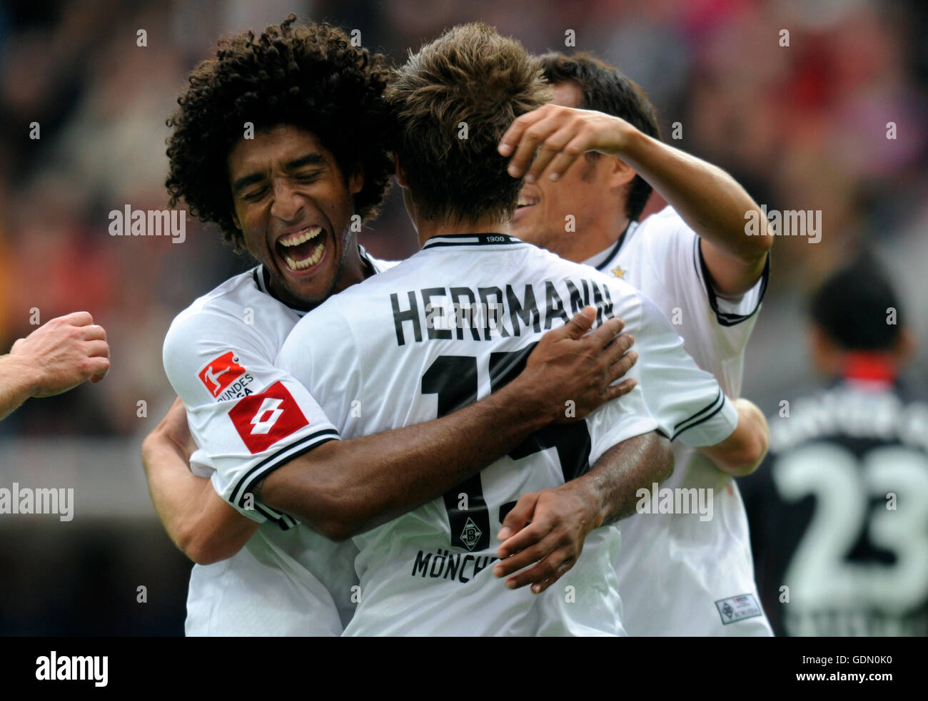
[[[521, 351], [490, 354], [491, 391], [503, 387], [522, 372], [536, 343]], [[422, 376], [422, 393], [438, 395], [439, 418], [476, 401], [477, 389], [477, 359], [471, 355], [440, 355]], [[535, 452], [555, 448], [566, 482], [582, 475], [589, 468], [590, 446], [586, 421], [551, 424], [523, 440], [509, 452], [509, 457], [519, 460]], [[470, 551], [489, 548], [490, 515], [483, 498], [480, 473], [446, 491], [444, 500], [451, 529], [451, 546], [463, 546]], [[499, 507], [500, 523], [513, 506], [515, 502], [504, 503]]]

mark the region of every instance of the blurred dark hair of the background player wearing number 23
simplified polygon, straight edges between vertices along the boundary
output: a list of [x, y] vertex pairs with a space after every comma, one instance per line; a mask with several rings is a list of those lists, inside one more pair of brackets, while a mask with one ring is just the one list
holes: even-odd
[[892, 351], [903, 325], [896, 290], [866, 254], [829, 275], [809, 307], [812, 321], [844, 351]]

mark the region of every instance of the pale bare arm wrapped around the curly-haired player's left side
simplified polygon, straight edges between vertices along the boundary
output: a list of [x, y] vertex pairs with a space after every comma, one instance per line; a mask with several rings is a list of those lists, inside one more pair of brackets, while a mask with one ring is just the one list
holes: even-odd
[[174, 544], [199, 565], [238, 553], [258, 528], [213, 489], [209, 479], [190, 472], [190, 445], [179, 427], [184, 405], [171, 411], [142, 443], [142, 465], [151, 502]]

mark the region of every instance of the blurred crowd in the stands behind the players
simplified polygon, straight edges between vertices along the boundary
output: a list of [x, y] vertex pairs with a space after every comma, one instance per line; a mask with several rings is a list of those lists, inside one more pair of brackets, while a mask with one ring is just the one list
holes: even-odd
[[[0, 486], [74, 486], [76, 517], [0, 516], [0, 633], [176, 634], [189, 564], [148, 503], [138, 445], [173, 400], [161, 341], [174, 314], [251, 263], [187, 219], [187, 241], [112, 237], [110, 210], [166, 208], [164, 121], [217, 38], [289, 12], [359, 30], [402, 61], [482, 19], [533, 52], [592, 51], [651, 96], [665, 138], [731, 172], [768, 209], [821, 210], [818, 244], [782, 237], [748, 348], [744, 396], [768, 413], [817, 384], [808, 291], [857, 252], [887, 269], [928, 360], [928, 5], [922, 0], [5, 0], [0, 6], [0, 351], [88, 310], [109, 333], [98, 386], [0, 423]], [[789, 46], [780, 31], [789, 31]], [[136, 45], [145, 30], [147, 45]], [[896, 139], [887, 138], [887, 122]], [[40, 138], [30, 138], [38, 122]], [[669, 138], [679, 122], [682, 138]], [[652, 201], [649, 211], [659, 201]], [[361, 236], [416, 247], [398, 192]], [[140, 416], [139, 401], [146, 402]], [[136, 588], [148, 588], [148, 604]]]

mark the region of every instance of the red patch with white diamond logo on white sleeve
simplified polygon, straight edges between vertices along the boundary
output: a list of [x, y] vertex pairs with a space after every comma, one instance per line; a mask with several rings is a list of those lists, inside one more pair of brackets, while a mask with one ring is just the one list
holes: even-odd
[[281, 382], [239, 400], [229, 410], [229, 418], [251, 454], [264, 452], [278, 440], [309, 426], [299, 404]]

